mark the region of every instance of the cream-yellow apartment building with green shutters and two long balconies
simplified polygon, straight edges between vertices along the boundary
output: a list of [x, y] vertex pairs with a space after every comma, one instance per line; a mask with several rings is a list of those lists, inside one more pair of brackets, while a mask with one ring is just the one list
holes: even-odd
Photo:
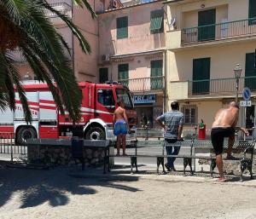
[[[201, 118], [210, 129], [215, 112], [235, 101], [234, 68], [242, 68], [238, 97], [252, 91], [252, 107], [241, 107], [239, 125], [255, 124], [256, 1], [172, 0], [165, 3], [167, 99], [181, 102], [186, 128]], [[168, 106], [169, 106], [168, 103]]]

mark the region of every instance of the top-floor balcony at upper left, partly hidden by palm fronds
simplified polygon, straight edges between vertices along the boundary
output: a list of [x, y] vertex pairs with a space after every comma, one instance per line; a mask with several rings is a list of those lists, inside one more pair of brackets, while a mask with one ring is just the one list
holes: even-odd
[[[55, 9], [56, 11], [60, 12], [61, 14], [65, 14], [68, 17], [72, 18], [72, 7], [67, 3], [49, 3], [49, 5]], [[51, 19], [54, 25], [64, 24], [64, 21], [61, 20], [55, 13], [45, 10], [45, 15]]]

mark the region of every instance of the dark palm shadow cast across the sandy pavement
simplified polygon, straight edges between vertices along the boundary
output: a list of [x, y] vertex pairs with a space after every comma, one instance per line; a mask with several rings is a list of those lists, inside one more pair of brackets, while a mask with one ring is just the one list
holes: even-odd
[[137, 176], [106, 177], [101, 173], [94, 178], [86, 177], [86, 171], [82, 175], [71, 176], [69, 173], [70, 170], [59, 168], [54, 170], [0, 169], [0, 208], [17, 192], [21, 203], [20, 208], [27, 208], [42, 205], [45, 202], [49, 202], [53, 207], [67, 205], [70, 194], [97, 193], [93, 186], [113, 187], [130, 192], [138, 191], [135, 187], [120, 184], [120, 182], [137, 181]]

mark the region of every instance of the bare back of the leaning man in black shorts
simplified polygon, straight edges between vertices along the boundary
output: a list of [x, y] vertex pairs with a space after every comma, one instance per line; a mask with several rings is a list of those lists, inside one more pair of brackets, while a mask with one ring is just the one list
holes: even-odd
[[236, 127], [239, 110], [236, 107], [220, 109], [214, 118], [212, 128], [214, 127]]

